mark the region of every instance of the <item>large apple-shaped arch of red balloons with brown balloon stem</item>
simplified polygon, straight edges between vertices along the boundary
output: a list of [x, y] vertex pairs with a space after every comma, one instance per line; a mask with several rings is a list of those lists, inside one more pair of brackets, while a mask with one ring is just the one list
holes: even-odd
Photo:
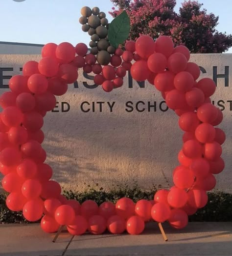
[[[75, 47], [67, 42], [48, 43], [41, 60], [26, 62], [23, 75], [13, 76], [10, 91], [0, 96], [0, 171], [4, 175], [2, 187], [10, 193], [6, 204], [12, 211], [23, 210], [30, 222], [42, 218], [41, 227], [46, 232], [65, 225], [73, 235], [87, 229], [101, 234], [106, 228], [113, 234], [125, 230], [139, 234], [151, 220], [184, 228], [188, 215], [207, 204], [207, 191], [216, 184], [214, 174], [224, 169], [221, 145], [225, 133], [214, 127], [222, 122], [223, 114], [210, 101], [216, 85], [209, 78], [198, 80], [200, 68], [188, 62], [189, 50], [174, 47], [168, 36], [154, 41], [142, 35], [135, 42], [127, 41], [125, 50], [118, 48], [114, 21], [109, 26], [104, 13], [96, 8], [84, 7], [80, 19], [82, 29], [92, 34], [92, 53], [83, 43]], [[125, 12], [121, 17], [121, 28], [125, 28], [128, 17]], [[93, 200], [80, 205], [61, 194], [59, 183], [51, 180], [52, 168], [45, 163], [41, 128], [46, 112], [56, 105], [55, 95], [66, 93], [68, 84], [77, 80], [79, 68], [93, 72], [95, 84], [106, 92], [123, 85], [127, 70], [135, 80], [148, 80], [161, 91], [185, 132], [178, 154], [180, 165], [173, 171], [170, 190], [159, 190], [152, 201], [121, 198], [116, 204], [104, 202], [100, 206]]]

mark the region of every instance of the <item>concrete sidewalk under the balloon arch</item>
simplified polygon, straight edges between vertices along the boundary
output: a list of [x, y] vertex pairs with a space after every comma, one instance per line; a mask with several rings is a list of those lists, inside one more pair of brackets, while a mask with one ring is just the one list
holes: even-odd
[[[183, 230], [150, 223], [138, 236], [128, 234], [74, 237], [66, 256], [232, 256], [232, 223], [189, 223]], [[60, 256], [70, 240], [62, 232], [44, 233], [38, 224], [0, 225], [0, 256]]]

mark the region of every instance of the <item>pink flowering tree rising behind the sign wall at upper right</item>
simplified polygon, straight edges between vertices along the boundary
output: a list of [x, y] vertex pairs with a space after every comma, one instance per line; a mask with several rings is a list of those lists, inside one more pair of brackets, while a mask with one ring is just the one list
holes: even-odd
[[142, 34], [154, 39], [168, 35], [191, 53], [223, 53], [232, 47], [232, 35], [216, 30], [218, 16], [208, 14], [198, 1], [185, 1], [179, 13], [174, 11], [176, 0], [111, 1], [116, 7], [110, 12], [113, 17], [123, 10], [130, 17], [129, 39], [136, 40]]

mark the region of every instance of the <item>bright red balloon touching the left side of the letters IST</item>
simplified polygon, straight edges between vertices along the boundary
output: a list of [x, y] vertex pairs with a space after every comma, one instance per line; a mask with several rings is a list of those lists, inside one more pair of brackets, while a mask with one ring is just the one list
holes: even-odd
[[198, 118], [204, 123], [212, 123], [217, 118], [218, 111], [211, 103], [205, 103], [197, 110]]

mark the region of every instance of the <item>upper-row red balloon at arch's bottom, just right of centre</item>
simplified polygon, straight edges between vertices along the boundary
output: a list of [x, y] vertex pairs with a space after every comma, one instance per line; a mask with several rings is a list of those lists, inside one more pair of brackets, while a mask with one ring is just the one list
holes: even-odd
[[135, 203], [129, 198], [121, 198], [116, 202], [116, 214], [128, 219], [135, 214]]

